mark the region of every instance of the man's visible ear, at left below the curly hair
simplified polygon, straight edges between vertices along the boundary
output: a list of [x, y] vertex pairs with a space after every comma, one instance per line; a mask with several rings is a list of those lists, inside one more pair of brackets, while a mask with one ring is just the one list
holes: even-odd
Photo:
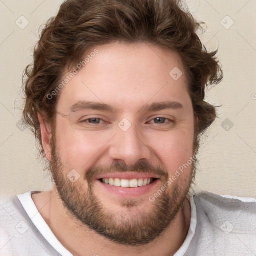
[[51, 127], [50, 127], [50, 125], [47, 125], [44, 122], [43, 117], [40, 113], [38, 113], [38, 119], [40, 122], [43, 150], [45, 152], [45, 155], [46, 155], [48, 161], [51, 161], [51, 143], [50, 143], [51, 137], [52, 137]]

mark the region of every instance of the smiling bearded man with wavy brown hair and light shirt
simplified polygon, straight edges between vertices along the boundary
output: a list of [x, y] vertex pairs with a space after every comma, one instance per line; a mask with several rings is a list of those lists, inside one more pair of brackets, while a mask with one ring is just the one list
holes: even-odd
[[1, 255], [256, 253], [255, 201], [189, 191], [222, 79], [198, 26], [175, 0], [61, 5], [23, 112], [54, 186], [1, 210]]

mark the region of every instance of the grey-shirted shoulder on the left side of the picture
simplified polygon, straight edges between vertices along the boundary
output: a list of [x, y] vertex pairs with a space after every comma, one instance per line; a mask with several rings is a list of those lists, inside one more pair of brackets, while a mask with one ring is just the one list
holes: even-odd
[[34, 255], [36, 251], [37, 255], [59, 256], [36, 228], [20, 198], [30, 210], [31, 192], [0, 200], [0, 255]]

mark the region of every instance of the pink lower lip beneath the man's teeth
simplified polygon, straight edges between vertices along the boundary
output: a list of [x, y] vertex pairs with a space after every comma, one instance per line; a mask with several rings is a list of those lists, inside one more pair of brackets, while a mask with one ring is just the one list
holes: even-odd
[[107, 189], [109, 192], [114, 193], [117, 196], [121, 196], [124, 198], [129, 198], [129, 197], [139, 197], [148, 194], [149, 192], [152, 192], [153, 188], [158, 184], [159, 180], [156, 179], [149, 185], [145, 186], [138, 186], [138, 187], [121, 187], [121, 186], [114, 186], [114, 185], [109, 185], [105, 184], [99, 180], [97, 180], [99, 185], [101, 185], [104, 189]]

